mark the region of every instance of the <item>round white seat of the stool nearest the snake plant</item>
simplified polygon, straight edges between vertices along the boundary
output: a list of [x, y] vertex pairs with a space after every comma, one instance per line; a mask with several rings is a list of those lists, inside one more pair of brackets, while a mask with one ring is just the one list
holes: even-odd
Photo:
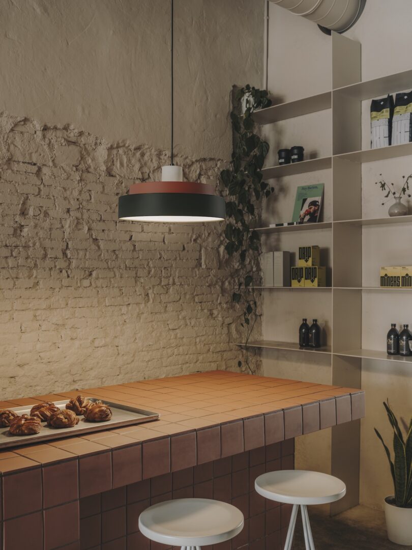
[[255, 489], [265, 498], [287, 504], [327, 504], [346, 494], [337, 477], [307, 470], [268, 472], [256, 478]]

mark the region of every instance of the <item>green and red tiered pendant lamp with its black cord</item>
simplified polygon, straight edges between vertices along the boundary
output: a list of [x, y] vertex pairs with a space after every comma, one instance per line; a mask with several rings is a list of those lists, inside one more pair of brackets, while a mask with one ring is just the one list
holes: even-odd
[[161, 182], [134, 183], [119, 197], [119, 219], [140, 222], [215, 222], [225, 219], [225, 200], [212, 185], [183, 182], [173, 164], [173, 0], [171, 0], [171, 155]]

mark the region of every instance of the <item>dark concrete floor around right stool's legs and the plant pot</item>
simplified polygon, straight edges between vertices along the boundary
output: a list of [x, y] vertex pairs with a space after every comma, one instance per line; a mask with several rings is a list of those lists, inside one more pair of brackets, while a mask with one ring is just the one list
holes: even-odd
[[[385, 515], [378, 510], [357, 506], [330, 518], [310, 509], [309, 519], [316, 550], [411, 550], [386, 536]], [[302, 521], [298, 516], [294, 550], [304, 550]]]

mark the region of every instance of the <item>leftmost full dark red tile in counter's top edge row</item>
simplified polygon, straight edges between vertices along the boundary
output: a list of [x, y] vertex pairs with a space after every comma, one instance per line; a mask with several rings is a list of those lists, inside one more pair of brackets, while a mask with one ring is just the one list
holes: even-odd
[[41, 468], [3, 477], [3, 517], [15, 518], [42, 508]]

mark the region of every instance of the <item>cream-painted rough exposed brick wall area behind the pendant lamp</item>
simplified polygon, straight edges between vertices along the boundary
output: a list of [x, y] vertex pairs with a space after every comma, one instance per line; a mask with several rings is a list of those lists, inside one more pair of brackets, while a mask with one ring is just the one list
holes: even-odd
[[[2, 399], [236, 368], [222, 224], [117, 221], [166, 152], [4, 113], [0, 129]], [[203, 182], [224, 166], [175, 162]]]

